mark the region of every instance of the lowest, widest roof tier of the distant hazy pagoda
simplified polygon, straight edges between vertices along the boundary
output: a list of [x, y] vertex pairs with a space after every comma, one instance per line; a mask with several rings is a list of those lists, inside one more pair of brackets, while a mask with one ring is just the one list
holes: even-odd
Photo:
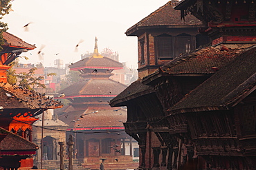
[[[82, 114], [85, 114], [83, 118], [80, 117]], [[123, 127], [122, 123], [127, 120], [127, 111], [111, 107], [109, 109], [86, 109], [85, 111], [70, 111], [59, 118], [68, 124], [69, 128], [74, 128], [73, 120], [76, 120], [77, 131], [85, 127]]]

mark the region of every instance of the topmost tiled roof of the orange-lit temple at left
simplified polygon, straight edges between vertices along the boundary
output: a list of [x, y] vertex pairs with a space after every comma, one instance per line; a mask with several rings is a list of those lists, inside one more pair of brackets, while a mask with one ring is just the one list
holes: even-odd
[[35, 45], [26, 43], [22, 39], [19, 39], [17, 36], [14, 36], [9, 32], [3, 32], [3, 39], [5, 40], [3, 46], [20, 47], [26, 48], [28, 50], [33, 50], [36, 48]]

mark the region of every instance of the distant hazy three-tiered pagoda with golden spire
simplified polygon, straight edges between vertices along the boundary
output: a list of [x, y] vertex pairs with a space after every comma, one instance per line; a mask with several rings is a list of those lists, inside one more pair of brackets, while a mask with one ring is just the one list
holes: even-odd
[[93, 55], [69, 67], [79, 71], [83, 80], [60, 91], [60, 98], [71, 103], [57, 113], [69, 125], [68, 130], [74, 131], [75, 158], [84, 168], [99, 169], [101, 162], [106, 169], [138, 167], [138, 162], [133, 161], [137, 142], [125, 134], [122, 124], [127, 110], [109, 106], [109, 100], [127, 87], [109, 78], [113, 70], [122, 69], [122, 63], [100, 55], [95, 38]]

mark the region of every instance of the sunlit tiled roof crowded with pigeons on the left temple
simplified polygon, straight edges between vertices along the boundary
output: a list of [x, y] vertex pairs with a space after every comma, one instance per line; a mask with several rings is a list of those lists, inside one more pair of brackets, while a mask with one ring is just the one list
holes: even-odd
[[0, 106], [3, 109], [55, 109], [62, 104], [33, 90], [0, 83]]

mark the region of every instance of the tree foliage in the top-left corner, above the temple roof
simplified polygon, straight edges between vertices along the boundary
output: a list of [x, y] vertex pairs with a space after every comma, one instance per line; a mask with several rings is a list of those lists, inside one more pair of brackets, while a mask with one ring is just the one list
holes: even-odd
[[[0, 1], [0, 19], [3, 19], [3, 16], [9, 13], [10, 7], [10, 0]], [[3, 23], [2, 21], [0, 21], [0, 50], [2, 50], [1, 46], [4, 43], [3, 32], [6, 32], [6, 30], [8, 30], [7, 23]]]

